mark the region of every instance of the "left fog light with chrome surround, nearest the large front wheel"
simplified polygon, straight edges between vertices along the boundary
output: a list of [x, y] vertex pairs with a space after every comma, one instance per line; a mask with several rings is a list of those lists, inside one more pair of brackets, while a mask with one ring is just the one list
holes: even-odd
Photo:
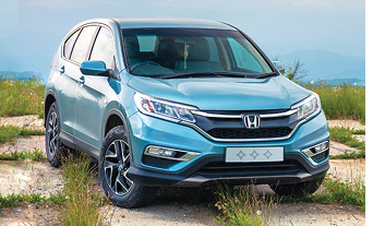
[[192, 160], [196, 156], [201, 155], [201, 153], [197, 153], [197, 152], [175, 150], [175, 148], [163, 147], [163, 146], [147, 146], [146, 150], [144, 151], [144, 154], [151, 155], [154, 157], [167, 158], [172, 160], [182, 160], [182, 162]]

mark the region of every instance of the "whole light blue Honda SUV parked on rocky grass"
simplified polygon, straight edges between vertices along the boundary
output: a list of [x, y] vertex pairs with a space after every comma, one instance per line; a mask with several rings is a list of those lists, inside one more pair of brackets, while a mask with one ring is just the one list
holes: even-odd
[[52, 61], [45, 126], [49, 163], [60, 166], [65, 147], [97, 158], [106, 195], [127, 207], [165, 186], [265, 183], [302, 195], [329, 168], [318, 96], [220, 22], [77, 24]]

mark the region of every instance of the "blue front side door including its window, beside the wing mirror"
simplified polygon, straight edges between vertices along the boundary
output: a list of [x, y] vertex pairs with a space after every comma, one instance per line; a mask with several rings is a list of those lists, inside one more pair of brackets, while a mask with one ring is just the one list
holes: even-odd
[[[99, 27], [89, 57], [86, 60], [104, 61], [106, 69], [116, 70], [115, 46], [111, 32]], [[81, 72], [80, 72], [81, 73]], [[110, 78], [103, 75], [80, 74], [75, 98], [74, 135], [82, 141], [76, 148], [97, 156], [101, 146], [103, 117], [108, 104], [108, 96], [113, 95], [109, 85]]]

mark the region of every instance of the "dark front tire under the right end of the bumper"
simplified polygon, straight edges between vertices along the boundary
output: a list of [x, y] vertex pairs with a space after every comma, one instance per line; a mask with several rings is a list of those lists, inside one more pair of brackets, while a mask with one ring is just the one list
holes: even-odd
[[318, 190], [324, 179], [325, 176], [306, 182], [292, 185], [270, 185], [269, 187], [279, 195], [303, 197]]

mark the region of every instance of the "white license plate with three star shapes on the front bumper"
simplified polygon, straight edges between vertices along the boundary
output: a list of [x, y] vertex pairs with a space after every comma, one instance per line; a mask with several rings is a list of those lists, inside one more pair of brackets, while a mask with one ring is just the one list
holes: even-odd
[[284, 146], [227, 147], [226, 163], [282, 162]]

